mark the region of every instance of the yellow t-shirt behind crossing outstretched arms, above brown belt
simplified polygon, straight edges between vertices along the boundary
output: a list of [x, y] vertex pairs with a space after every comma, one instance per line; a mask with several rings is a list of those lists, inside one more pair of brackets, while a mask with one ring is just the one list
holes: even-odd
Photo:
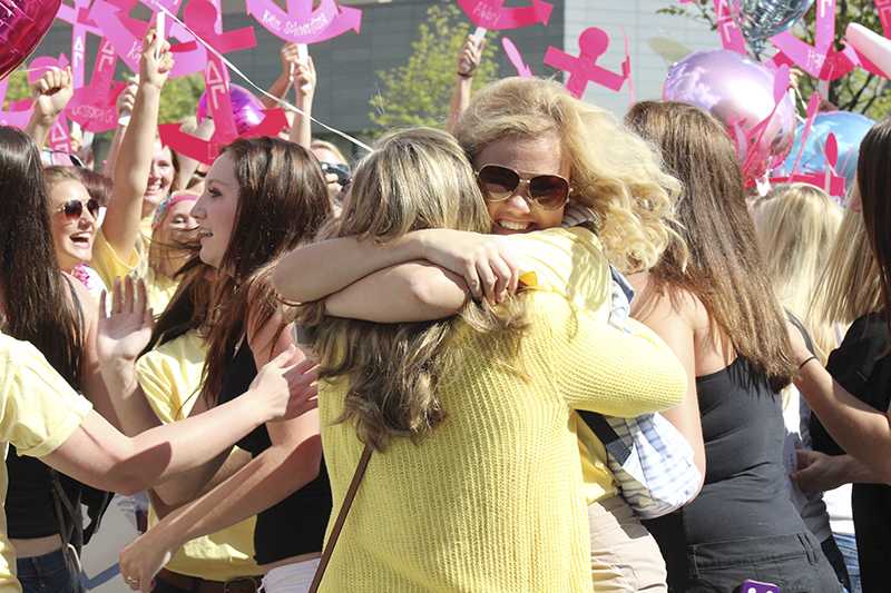
[[[206, 346], [196, 332], [189, 332], [146, 354], [136, 364], [139, 385], [148, 403], [164, 423], [188, 417], [202, 382]], [[157, 523], [149, 510], [149, 525]], [[260, 575], [254, 561], [254, 524], [242, 521], [186, 544], [167, 563], [167, 570], [208, 581]]]

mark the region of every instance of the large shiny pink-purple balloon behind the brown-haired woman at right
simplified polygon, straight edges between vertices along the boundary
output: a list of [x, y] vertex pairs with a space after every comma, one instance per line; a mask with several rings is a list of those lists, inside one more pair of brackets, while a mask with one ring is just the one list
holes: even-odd
[[[695, 105], [727, 127], [727, 132], [743, 146], [737, 135], [748, 135], [773, 111], [774, 75], [745, 56], [724, 49], [696, 51], [668, 71], [663, 99]], [[746, 180], [758, 179], [781, 164], [795, 137], [795, 105], [789, 92], [780, 101], [760, 142], [757, 135], [748, 147]], [[741, 161], [746, 155], [740, 155]]]

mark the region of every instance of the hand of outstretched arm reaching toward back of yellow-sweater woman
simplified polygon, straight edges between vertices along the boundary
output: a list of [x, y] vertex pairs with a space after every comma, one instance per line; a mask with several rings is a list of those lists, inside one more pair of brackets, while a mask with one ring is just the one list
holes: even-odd
[[291, 419], [319, 406], [315, 360], [291, 345], [260, 369], [244, 397], [268, 412], [268, 421]]

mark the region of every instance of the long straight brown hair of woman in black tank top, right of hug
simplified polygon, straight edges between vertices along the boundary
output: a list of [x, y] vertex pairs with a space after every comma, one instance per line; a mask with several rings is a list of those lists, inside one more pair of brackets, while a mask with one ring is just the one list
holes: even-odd
[[684, 185], [677, 202], [686, 266], [673, 246], [650, 270], [656, 286], [702, 300], [738, 356], [785, 387], [794, 372], [783, 310], [764, 271], [736, 151], [724, 128], [691, 105], [643, 101], [626, 122], [662, 149]]

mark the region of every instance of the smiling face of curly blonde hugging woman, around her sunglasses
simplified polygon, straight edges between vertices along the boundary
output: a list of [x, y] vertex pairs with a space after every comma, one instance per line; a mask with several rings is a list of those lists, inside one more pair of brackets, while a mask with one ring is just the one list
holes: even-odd
[[[559, 175], [569, 179], [569, 162], [562, 158], [560, 138], [556, 132], [539, 138], [503, 138], [490, 142], [473, 160], [473, 169], [479, 171], [484, 165], [501, 165], [516, 170], [525, 179], [537, 175]], [[486, 200], [492, 219], [492, 233], [513, 235], [559, 226], [564, 219], [564, 207], [546, 210], [531, 206], [523, 196], [529, 197], [529, 185], [520, 184], [508, 199]], [[484, 192], [483, 192], [484, 196]]]

